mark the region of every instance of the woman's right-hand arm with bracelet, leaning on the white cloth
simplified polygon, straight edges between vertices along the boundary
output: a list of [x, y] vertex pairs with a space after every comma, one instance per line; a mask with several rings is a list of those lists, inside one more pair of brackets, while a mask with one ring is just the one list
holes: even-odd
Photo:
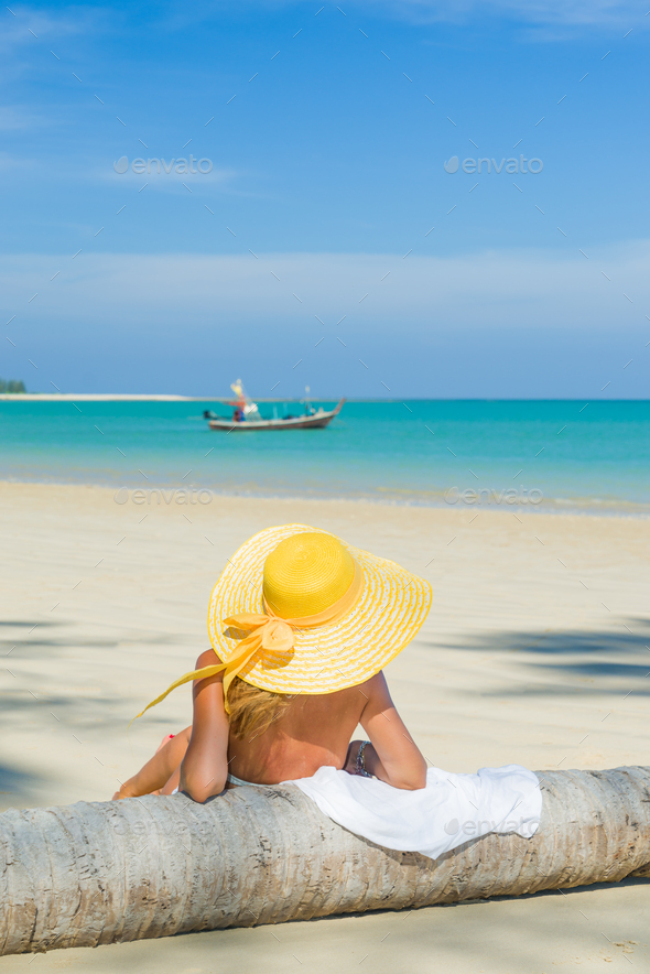
[[[426, 784], [426, 760], [394, 708], [383, 673], [364, 684], [368, 696], [359, 723], [370, 738], [364, 751], [367, 770], [393, 788], [415, 790]], [[360, 742], [350, 746], [348, 764], [356, 766]], [[354, 773], [354, 771], [353, 771]]]

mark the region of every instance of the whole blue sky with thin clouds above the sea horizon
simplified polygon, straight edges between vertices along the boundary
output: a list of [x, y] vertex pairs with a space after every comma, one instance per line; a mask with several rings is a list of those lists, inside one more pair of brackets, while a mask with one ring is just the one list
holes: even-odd
[[195, 6], [0, 14], [0, 375], [648, 396], [643, 4]]

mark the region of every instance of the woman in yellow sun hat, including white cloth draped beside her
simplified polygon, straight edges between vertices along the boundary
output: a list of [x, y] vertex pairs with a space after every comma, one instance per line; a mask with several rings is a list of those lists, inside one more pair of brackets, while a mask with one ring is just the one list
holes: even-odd
[[[424, 580], [324, 531], [256, 534], [213, 589], [213, 649], [145, 707], [192, 680], [192, 726], [113, 797], [180, 790], [205, 802], [227, 787], [293, 781], [339, 824], [391, 848], [436, 857], [468, 835], [530, 837], [541, 812], [531, 771], [427, 771], [392, 703], [382, 668], [431, 598]], [[359, 724], [369, 740], [350, 744]]]

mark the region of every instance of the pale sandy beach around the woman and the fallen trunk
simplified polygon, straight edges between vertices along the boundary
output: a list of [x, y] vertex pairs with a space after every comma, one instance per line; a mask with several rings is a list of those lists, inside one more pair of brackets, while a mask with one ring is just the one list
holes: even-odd
[[[433, 586], [387, 668], [432, 765], [535, 770], [650, 764], [650, 520], [632, 516], [228, 497], [165, 502], [112, 487], [3, 483], [2, 809], [111, 797], [191, 721], [182, 688], [129, 721], [207, 648], [226, 559], [270, 524], [331, 530]], [[142, 499], [143, 498], [143, 499]], [[120, 498], [123, 500], [123, 498]], [[33, 971], [550, 972], [650, 965], [647, 880], [54, 951]], [[617, 945], [618, 944], [618, 945]], [[625, 954], [625, 956], [624, 956]], [[3, 961], [23, 970], [23, 956]]]

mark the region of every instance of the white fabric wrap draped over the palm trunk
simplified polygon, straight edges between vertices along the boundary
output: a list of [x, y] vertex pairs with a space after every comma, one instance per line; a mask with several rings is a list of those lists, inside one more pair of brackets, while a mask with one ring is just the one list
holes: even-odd
[[430, 768], [426, 787], [416, 791], [329, 767], [292, 783], [356, 835], [432, 859], [488, 832], [530, 838], [542, 813], [539, 779], [520, 765], [481, 768], [476, 775]]

